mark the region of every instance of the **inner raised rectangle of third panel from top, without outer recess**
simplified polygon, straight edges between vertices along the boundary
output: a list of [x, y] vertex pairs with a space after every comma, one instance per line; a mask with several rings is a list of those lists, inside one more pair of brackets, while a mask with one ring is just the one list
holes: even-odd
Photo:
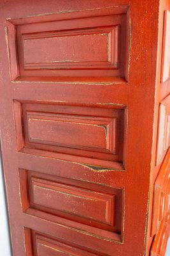
[[32, 177], [32, 203], [113, 225], [115, 196]]

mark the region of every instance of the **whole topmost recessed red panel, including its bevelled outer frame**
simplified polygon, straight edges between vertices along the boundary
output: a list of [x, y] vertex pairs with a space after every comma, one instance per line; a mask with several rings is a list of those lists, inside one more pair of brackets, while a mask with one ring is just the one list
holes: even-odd
[[117, 6], [8, 19], [11, 80], [127, 81], [128, 10]]

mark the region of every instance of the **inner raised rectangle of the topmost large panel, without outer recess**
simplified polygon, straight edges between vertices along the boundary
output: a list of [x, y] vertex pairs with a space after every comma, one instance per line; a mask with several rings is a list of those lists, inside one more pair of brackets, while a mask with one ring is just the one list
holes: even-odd
[[118, 26], [37, 33], [23, 39], [25, 69], [118, 68]]

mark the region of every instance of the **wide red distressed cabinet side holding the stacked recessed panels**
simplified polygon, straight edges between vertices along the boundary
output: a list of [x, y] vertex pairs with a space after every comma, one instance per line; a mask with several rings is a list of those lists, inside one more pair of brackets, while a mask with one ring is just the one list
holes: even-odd
[[13, 256], [145, 252], [159, 1], [137, 2], [0, 3]]

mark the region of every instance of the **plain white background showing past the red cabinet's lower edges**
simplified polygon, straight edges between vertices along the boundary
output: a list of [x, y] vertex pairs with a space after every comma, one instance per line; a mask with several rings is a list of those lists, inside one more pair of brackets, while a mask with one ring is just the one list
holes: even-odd
[[[1, 157], [0, 157], [0, 255], [11, 256], [10, 238], [9, 238], [9, 232], [8, 232], [8, 218], [6, 214], [6, 203], [5, 203], [5, 195], [4, 195], [3, 173], [1, 168]], [[18, 255], [18, 256], [24, 256], [24, 255]], [[50, 255], [46, 255], [46, 256], [50, 256]], [[167, 245], [166, 256], [170, 256], [170, 239]]]

